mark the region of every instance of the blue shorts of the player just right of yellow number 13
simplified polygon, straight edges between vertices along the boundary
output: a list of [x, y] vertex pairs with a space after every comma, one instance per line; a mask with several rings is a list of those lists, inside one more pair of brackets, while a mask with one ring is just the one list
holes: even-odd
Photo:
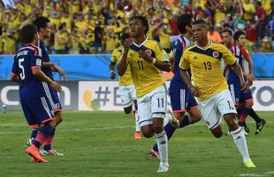
[[231, 80], [227, 81], [230, 92], [232, 94], [232, 100], [235, 105], [247, 104], [253, 101], [253, 96], [251, 90], [248, 89], [247, 92], [241, 90], [240, 81]]

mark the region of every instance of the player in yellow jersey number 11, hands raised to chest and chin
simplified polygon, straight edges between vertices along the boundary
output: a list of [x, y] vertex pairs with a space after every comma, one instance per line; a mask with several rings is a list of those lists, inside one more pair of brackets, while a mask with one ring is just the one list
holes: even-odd
[[160, 154], [158, 173], [169, 170], [168, 140], [164, 131], [166, 112], [166, 89], [160, 70], [169, 72], [171, 65], [161, 45], [147, 38], [148, 20], [133, 16], [129, 21], [130, 35], [124, 43], [118, 74], [126, 73], [130, 66], [137, 94], [138, 122], [141, 133], [149, 138], [156, 135]]

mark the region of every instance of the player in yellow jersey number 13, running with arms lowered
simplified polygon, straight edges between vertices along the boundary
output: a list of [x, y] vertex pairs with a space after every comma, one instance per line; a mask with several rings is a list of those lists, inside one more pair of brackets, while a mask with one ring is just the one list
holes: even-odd
[[[255, 167], [249, 158], [246, 137], [237, 124], [237, 112], [222, 72], [221, 59], [231, 65], [240, 78], [241, 88], [247, 90], [240, 65], [224, 45], [208, 39], [208, 26], [203, 19], [195, 20], [192, 30], [195, 42], [186, 48], [179, 64], [182, 78], [192, 94], [197, 96], [202, 117], [211, 133], [217, 138], [223, 135], [221, 118], [224, 117], [244, 165]], [[191, 69], [194, 85], [186, 72], [188, 68]]]

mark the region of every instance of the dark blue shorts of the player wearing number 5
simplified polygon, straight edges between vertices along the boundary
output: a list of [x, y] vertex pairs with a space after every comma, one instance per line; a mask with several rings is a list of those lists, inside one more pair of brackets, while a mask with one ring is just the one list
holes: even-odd
[[54, 108], [47, 96], [21, 100], [21, 105], [29, 127], [36, 127], [54, 118]]

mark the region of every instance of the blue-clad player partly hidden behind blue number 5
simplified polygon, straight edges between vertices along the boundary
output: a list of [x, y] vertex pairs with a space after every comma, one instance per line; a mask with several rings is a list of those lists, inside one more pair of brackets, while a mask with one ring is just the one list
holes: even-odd
[[[39, 48], [42, 50], [42, 72], [45, 73], [52, 81], [53, 81], [53, 75], [52, 71], [58, 72], [61, 76], [64, 77], [64, 80], [66, 81], [66, 75], [65, 72], [58, 67], [56, 64], [53, 64], [49, 61], [49, 53], [46, 48], [46, 44], [44, 40], [49, 39], [49, 35], [51, 34], [50, 29], [50, 21], [48, 18], [45, 17], [38, 17], [37, 19], [34, 19], [34, 26], [37, 27], [38, 33], [39, 33]], [[52, 89], [52, 87], [49, 84], [43, 83], [43, 88], [47, 91], [47, 96], [49, 98], [50, 104], [52, 107], [55, 107], [54, 114], [55, 114], [55, 121], [56, 126], [62, 122], [62, 105], [60, 104], [59, 98], [57, 96], [57, 91], [55, 89]], [[35, 139], [39, 127], [34, 127], [32, 130], [31, 138], [28, 140], [27, 144], [30, 145], [32, 141]], [[55, 132], [54, 128], [54, 132]], [[43, 149], [40, 150], [40, 153], [44, 156], [64, 156], [63, 153], [57, 152], [57, 150], [53, 150], [51, 148], [51, 143], [53, 141], [53, 137], [55, 134], [50, 136], [50, 138], [44, 142]]]

